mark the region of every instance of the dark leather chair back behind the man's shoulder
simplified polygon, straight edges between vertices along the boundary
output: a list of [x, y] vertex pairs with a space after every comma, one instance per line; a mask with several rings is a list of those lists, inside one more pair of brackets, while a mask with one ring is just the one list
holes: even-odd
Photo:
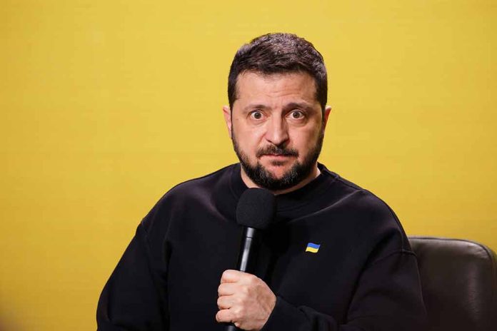
[[497, 256], [469, 240], [409, 237], [429, 331], [497, 331]]

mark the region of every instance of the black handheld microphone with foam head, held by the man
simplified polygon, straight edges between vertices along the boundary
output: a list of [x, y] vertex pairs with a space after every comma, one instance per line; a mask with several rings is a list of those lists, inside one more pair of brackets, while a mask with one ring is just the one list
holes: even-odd
[[[276, 212], [276, 198], [263, 188], [249, 188], [242, 193], [236, 205], [236, 223], [244, 227], [236, 270], [251, 273], [256, 263], [256, 249], [260, 245], [261, 230], [265, 230]], [[235, 325], [225, 331], [239, 330]]]

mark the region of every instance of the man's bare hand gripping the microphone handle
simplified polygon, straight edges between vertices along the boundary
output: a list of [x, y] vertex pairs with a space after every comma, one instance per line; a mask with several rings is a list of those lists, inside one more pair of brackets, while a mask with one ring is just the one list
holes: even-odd
[[243, 330], [261, 330], [276, 305], [276, 295], [263, 280], [241, 271], [224, 271], [218, 293], [216, 320]]

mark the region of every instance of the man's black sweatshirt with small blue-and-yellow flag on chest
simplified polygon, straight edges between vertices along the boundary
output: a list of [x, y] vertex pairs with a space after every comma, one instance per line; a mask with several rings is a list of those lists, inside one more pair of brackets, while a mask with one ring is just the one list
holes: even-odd
[[[319, 167], [311, 183], [276, 197], [254, 270], [277, 297], [262, 330], [423, 330], [416, 255], [396, 215]], [[166, 193], [104, 287], [99, 330], [224, 330], [217, 289], [236, 267], [244, 190], [236, 164]]]

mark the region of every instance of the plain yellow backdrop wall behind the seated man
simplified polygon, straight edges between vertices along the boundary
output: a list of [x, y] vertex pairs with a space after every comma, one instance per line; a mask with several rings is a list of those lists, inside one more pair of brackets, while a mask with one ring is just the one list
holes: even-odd
[[2, 0], [0, 330], [96, 327], [156, 200], [236, 161], [226, 77], [268, 31], [325, 58], [321, 162], [409, 235], [497, 249], [495, 1]]

